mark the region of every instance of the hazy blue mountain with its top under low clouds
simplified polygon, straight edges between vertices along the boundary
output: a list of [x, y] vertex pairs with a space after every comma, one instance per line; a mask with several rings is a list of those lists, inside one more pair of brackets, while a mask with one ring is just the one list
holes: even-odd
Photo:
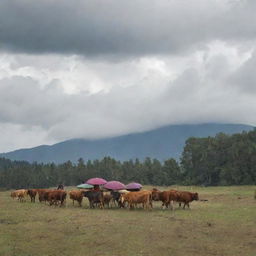
[[118, 160], [144, 159], [145, 157], [164, 160], [179, 159], [189, 137], [214, 136], [219, 132], [234, 134], [252, 130], [253, 126], [241, 124], [197, 124], [169, 125], [155, 130], [134, 133], [113, 138], [86, 140], [72, 139], [51, 146], [42, 145], [0, 154], [11, 160], [29, 162], [62, 163], [101, 159], [110, 156]]

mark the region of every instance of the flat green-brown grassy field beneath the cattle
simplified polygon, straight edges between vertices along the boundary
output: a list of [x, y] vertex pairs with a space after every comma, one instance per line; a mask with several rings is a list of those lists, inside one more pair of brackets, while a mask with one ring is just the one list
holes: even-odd
[[87, 199], [60, 208], [0, 192], [0, 256], [256, 255], [255, 187], [172, 188], [208, 201], [190, 210], [91, 210]]

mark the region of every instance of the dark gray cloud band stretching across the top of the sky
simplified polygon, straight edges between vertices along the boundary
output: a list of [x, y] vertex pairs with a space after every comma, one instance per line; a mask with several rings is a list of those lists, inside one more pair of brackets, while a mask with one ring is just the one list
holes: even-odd
[[206, 41], [255, 39], [255, 7], [253, 0], [2, 0], [0, 42], [27, 53], [184, 54]]

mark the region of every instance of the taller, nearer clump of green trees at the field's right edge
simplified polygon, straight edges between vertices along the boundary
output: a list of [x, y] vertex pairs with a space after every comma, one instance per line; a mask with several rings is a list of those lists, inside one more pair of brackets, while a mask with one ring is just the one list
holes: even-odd
[[256, 184], [256, 129], [234, 135], [189, 138], [180, 166], [186, 184]]

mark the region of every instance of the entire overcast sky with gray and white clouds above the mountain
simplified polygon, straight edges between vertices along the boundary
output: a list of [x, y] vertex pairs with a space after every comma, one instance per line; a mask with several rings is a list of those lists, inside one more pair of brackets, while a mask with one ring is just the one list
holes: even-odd
[[1, 0], [0, 152], [256, 125], [255, 12], [255, 0]]

